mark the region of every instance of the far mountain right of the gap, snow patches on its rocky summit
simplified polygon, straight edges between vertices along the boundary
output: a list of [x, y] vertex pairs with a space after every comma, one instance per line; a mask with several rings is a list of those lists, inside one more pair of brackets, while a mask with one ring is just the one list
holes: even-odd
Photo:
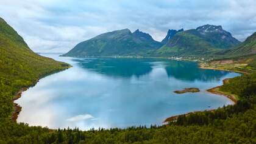
[[199, 56], [212, 55], [222, 49], [240, 44], [240, 41], [223, 30], [221, 26], [205, 25], [196, 29], [178, 32], [154, 55]]

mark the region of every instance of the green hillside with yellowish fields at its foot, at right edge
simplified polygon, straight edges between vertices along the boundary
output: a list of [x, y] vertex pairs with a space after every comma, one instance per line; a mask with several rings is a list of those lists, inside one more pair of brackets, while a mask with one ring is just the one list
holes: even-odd
[[215, 59], [201, 63], [201, 67], [226, 69], [235, 72], [255, 72], [256, 67], [256, 33], [232, 49], [215, 53]]

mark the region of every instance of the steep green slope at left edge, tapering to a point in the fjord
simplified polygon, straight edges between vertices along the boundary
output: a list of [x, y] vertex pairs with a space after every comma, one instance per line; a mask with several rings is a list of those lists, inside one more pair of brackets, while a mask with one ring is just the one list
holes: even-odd
[[32, 86], [38, 78], [67, 67], [66, 63], [32, 52], [23, 38], [0, 18], [0, 121], [12, 114], [12, 98], [21, 87]]

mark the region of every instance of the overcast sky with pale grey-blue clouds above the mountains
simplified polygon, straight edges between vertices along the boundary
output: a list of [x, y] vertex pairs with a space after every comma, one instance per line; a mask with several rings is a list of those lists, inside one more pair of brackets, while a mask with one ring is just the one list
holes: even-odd
[[243, 41], [256, 32], [256, 0], [0, 0], [0, 16], [35, 52], [67, 52], [117, 29], [161, 41], [168, 29], [221, 25]]

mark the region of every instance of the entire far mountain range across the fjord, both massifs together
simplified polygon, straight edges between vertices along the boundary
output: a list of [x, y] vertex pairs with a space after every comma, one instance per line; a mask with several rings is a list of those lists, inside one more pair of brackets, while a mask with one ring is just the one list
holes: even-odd
[[67, 57], [142, 55], [154, 57], [208, 56], [240, 44], [221, 26], [204, 25], [190, 30], [168, 30], [162, 42], [148, 33], [129, 29], [103, 33], [77, 44]]

